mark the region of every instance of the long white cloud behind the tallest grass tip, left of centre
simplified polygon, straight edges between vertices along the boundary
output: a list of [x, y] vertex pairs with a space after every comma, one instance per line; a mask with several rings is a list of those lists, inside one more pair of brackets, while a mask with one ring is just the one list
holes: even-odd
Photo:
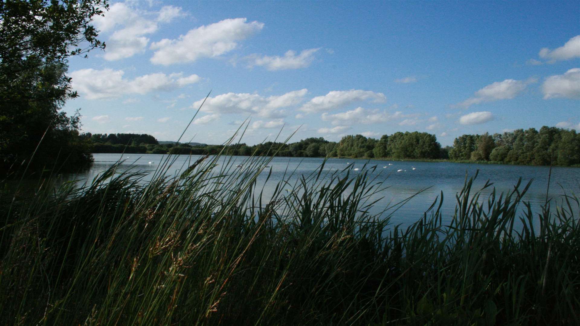
[[[249, 93], [226, 93], [215, 97], [208, 97], [201, 111], [206, 113], [245, 113], [258, 114], [265, 118], [281, 118], [284, 111], [280, 108], [299, 104], [308, 90], [300, 89], [280, 96], [264, 97]], [[194, 102], [191, 107], [198, 108], [204, 99]]]

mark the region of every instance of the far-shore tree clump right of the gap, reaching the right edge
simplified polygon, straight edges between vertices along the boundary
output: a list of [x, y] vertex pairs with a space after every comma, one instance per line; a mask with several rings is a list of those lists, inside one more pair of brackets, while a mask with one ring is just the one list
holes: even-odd
[[575, 165], [580, 164], [580, 134], [543, 126], [494, 135], [457, 137], [449, 150], [451, 160], [495, 161], [504, 164]]

